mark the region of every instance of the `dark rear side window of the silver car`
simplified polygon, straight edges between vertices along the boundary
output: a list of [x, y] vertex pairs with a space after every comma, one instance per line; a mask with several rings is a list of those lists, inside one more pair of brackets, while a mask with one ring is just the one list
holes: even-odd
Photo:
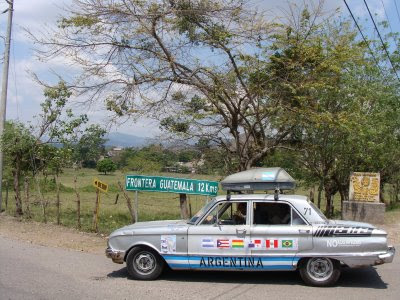
[[258, 225], [290, 225], [291, 207], [286, 203], [256, 202], [253, 205], [253, 223]]

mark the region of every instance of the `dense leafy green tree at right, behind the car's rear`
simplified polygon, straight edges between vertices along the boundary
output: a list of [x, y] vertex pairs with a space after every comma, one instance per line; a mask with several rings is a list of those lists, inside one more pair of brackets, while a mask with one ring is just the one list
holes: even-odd
[[287, 146], [298, 152], [298, 173], [324, 190], [331, 215], [333, 195], [347, 199], [352, 171], [386, 174], [399, 155], [398, 82], [388, 70], [381, 74], [348, 21], [316, 24], [304, 10], [274, 47], [265, 90], [286, 99], [294, 129]]

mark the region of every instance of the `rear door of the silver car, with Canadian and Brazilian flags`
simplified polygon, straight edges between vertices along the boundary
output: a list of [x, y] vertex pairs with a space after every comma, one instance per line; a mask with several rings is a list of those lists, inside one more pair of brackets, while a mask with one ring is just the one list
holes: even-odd
[[312, 228], [287, 202], [253, 201], [252, 257], [264, 269], [291, 270], [298, 252], [312, 249]]

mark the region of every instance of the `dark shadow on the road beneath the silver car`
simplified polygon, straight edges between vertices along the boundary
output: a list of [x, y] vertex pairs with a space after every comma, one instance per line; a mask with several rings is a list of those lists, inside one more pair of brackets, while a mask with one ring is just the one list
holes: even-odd
[[[129, 278], [126, 268], [107, 274], [109, 278]], [[210, 283], [241, 283], [241, 284], [280, 284], [304, 285], [298, 272], [224, 272], [224, 271], [172, 271], [166, 270], [158, 280], [210, 282]], [[386, 289], [374, 267], [350, 269], [344, 268], [336, 284], [339, 287], [361, 287]]]

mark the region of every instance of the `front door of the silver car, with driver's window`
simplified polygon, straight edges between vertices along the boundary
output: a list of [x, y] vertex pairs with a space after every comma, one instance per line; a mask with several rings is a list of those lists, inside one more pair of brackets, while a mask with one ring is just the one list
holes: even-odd
[[[197, 224], [188, 229], [188, 258], [195, 269], [244, 269], [251, 252], [248, 213], [238, 221], [235, 209], [248, 201], [220, 201]], [[243, 215], [241, 216], [243, 217]]]

